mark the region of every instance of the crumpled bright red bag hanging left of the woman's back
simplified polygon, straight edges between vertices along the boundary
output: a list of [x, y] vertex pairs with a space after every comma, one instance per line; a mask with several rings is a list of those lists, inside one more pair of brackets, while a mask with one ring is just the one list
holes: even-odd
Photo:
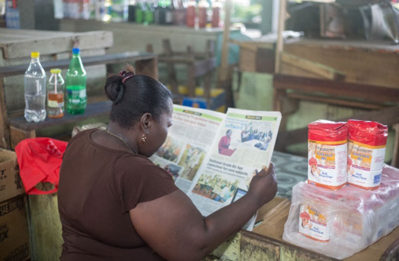
[[[51, 138], [24, 139], [15, 147], [21, 177], [26, 194], [50, 194], [58, 189], [59, 168], [67, 142]], [[35, 188], [40, 182], [54, 185], [50, 191]]]

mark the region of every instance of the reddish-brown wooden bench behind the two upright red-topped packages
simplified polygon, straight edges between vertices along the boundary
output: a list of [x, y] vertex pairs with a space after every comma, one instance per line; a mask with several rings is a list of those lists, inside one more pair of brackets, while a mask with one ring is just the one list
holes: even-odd
[[[292, 102], [286, 103], [287, 99], [370, 110], [339, 120], [371, 120], [392, 127], [395, 137], [391, 165], [399, 167], [399, 89], [282, 74], [274, 75], [273, 88], [274, 110], [281, 111], [283, 119], [297, 109], [297, 103], [292, 106]], [[307, 128], [285, 131], [284, 127], [282, 123], [276, 150], [286, 151], [288, 145], [307, 141]]]

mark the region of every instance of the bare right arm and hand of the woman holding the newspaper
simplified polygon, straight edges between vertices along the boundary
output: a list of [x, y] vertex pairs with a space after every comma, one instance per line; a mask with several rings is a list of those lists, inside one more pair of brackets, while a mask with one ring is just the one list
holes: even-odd
[[203, 218], [180, 190], [129, 211], [137, 233], [167, 260], [200, 260], [237, 232], [277, 191], [274, 166], [255, 176], [248, 193]]

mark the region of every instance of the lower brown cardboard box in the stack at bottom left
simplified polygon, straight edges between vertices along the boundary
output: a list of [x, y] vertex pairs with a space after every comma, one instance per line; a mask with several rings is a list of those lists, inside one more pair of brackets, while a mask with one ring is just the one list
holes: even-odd
[[26, 197], [0, 203], [0, 261], [29, 259]]

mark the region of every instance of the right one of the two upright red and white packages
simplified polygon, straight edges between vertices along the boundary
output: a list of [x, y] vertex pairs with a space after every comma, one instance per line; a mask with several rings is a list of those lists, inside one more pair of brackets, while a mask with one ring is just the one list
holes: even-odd
[[374, 121], [349, 120], [347, 179], [350, 185], [377, 189], [385, 158], [388, 127]]

